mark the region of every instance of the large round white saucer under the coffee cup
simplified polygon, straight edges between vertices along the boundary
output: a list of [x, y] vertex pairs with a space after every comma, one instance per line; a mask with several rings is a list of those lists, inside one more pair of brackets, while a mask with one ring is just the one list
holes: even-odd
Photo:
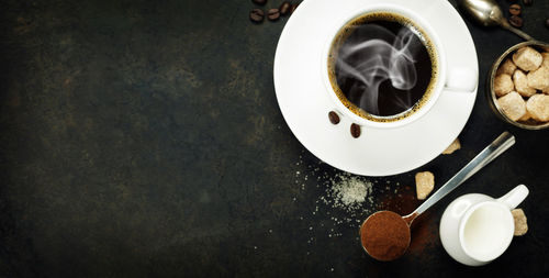
[[[474, 92], [442, 91], [433, 109], [403, 127], [362, 129], [350, 135], [348, 118], [333, 125], [335, 105], [321, 78], [321, 52], [334, 20], [378, 0], [305, 0], [280, 36], [274, 57], [274, 89], [290, 130], [321, 160], [363, 176], [389, 176], [417, 168], [437, 157], [461, 132], [471, 114]], [[474, 44], [463, 20], [448, 1], [385, 0], [424, 16], [433, 24], [448, 55], [448, 66], [474, 68]]]

